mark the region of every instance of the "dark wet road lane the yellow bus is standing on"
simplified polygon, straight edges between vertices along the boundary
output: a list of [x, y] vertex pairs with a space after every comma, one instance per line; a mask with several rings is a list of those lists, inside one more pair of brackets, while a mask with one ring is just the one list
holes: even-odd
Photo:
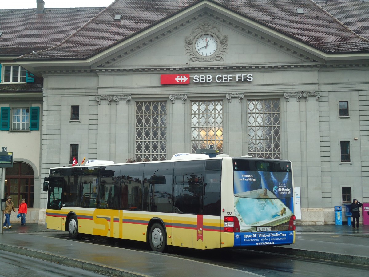
[[[55, 237], [55, 239], [71, 240], [68, 233], [65, 232], [51, 233], [48, 234], [48, 236]], [[133, 249], [142, 252], [151, 252], [147, 244], [131, 242], [129, 240], [85, 236], [81, 241]], [[204, 251], [170, 247], [168, 252], [156, 254], [181, 257], [183, 259], [196, 260], [207, 264], [216, 264], [257, 274], [259, 276], [366, 276], [369, 269], [369, 267], [365, 266], [342, 265], [323, 260], [309, 260], [300, 257], [288, 257], [274, 253], [260, 253], [244, 249], [216, 249]]]

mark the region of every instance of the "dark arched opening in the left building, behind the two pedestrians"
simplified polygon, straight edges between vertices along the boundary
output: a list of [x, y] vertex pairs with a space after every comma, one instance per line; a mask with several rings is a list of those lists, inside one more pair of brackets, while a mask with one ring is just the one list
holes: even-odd
[[33, 208], [34, 184], [35, 174], [32, 167], [25, 163], [13, 163], [13, 167], [5, 171], [4, 198], [11, 196], [15, 207], [18, 207], [24, 198], [28, 208]]

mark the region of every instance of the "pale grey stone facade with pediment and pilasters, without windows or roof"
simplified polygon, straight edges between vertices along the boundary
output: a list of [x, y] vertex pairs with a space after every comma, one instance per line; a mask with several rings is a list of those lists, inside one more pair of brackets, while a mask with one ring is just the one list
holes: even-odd
[[[265, 26], [256, 30], [256, 24], [238, 20], [207, 10], [191, 20], [178, 18], [170, 32], [161, 26], [121, 42], [88, 63], [18, 61], [44, 78], [42, 139], [31, 142], [41, 148], [37, 189], [50, 167], [68, 166], [70, 144], [79, 145], [80, 159], [123, 163], [135, 158], [138, 102], [166, 103], [170, 159], [192, 151], [192, 101], [222, 101], [223, 153], [241, 156], [249, 154], [248, 101], [273, 99], [280, 105], [280, 158], [292, 161], [294, 185], [301, 188], [300, 223], [334, 224], [342, 187], [351, 187], [352, 198], [368, 202], [368, 56], [365, 62], [328, 58]], [[191, 49], [189, 40], [204, 23], [216, 27], [213, 35], [222, 42], [218, 59], [201, 60]], [[161, 85], [166, 74], [189, 74], [190, 83]], [[252, 81], [237, 80], [249, 74]], [[211, 76], [211, 82], [195, 82], [200, 75]], [[349, 116], [339, 116], [340, 101], [348, 101]], [[70, 120], [72, 105], [80, 106], [78, 121]], [[8, 148], [16, 148], [6, 136]], [[341, 141], [349, 141], [349, 162], [341, 162]], [[45, 208], [41, 191], [34, 210], [39, 215], [32, 213], [31, 219], [42, 224]]]

